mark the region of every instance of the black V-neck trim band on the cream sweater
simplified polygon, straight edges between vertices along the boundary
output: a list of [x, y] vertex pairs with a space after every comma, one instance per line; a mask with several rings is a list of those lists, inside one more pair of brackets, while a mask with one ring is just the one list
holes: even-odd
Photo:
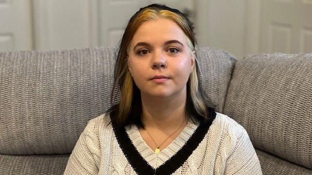
[[[204, 139], [208, 129], [215, 120], [215, 109], [209, 107], [209, 121], [204, 124], [200, 122], [195, 132], [186, 141], [183, 147], [178, 152], [170, 157], [166, 162], [154, 169], [137, 151], [136, 147], [132, 144], [125, 127], [117, 127], [114, 120], [112, 121], [113, 130], [118, 141], [118, 144], [128, 159], [129, 163], [138, 175], [171, 175], [190, 157], [193, 151], [197, 148], [198, 144]], [[118, 128], [118, 129], [117, 129]]]

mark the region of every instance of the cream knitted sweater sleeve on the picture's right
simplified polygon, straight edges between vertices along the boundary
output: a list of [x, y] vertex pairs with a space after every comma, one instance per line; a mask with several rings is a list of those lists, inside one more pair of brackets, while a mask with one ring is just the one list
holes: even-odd
[[240, 126], [234, 135], [234, 149], [226, 160], [224, 175], [262, 175], [259, 159], [247, 131]]

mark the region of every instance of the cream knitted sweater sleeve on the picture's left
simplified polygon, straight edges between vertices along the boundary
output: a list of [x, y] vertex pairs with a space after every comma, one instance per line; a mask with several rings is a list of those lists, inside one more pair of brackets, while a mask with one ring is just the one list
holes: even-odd
[[98, 175], [99, 146], [96, 121], [87, 123], [70, 155], [64, 175]]

